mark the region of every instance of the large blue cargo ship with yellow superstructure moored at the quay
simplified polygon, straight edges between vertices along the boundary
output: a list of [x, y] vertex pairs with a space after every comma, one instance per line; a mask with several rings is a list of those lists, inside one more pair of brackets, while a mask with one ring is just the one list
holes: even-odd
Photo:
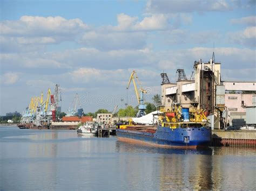
[[202, 109], [173, 104], [160, 111], [158, 126], [135, 125], [117, 129], [118, 140], [170, 148], [194, 149], [210, 145], [211, 125]]

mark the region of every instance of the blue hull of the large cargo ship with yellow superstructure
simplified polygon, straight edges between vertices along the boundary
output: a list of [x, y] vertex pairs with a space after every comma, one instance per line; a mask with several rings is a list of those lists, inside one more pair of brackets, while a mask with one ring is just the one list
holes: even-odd
[[211, 142], [210, 128], [157, 128], [155, 133], [117, 129], [116, 134], [120, 140], [129, 142], [145, 142], [154, 146], [198, 148], [208, 146]]

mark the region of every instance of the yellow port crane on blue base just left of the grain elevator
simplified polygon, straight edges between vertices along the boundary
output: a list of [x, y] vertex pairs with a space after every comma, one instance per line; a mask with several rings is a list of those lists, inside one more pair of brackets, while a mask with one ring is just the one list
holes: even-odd
[[[137, 88], [137, 84], [136, 84], [135, 79], [137, 80], [137, 82], [139, 84], [139, 90]], [[146, 112], [145, 112], [146, 105], [144, 104], [144, 94], [146, 93], [146, 90], [144, 90], [142, 88], [142, 85], [139, 82], [139, 78], [138, 78], [137, 73], [135, 72], [135, 70], [132, 71], [132, 74], [130, 76], [130, 79], [129, 79], [129, 82], [128, 82], [128, 85], [127, 85], [126, 89], [129, 89], [131, 81], [133, 82], [135, 94], [136, 94], [136, 97], [137, 97], [137, 101], [139, 103], [139, 111], [138, 111], [136, 117], [142, 117], [142, 116], [146, 115]]]

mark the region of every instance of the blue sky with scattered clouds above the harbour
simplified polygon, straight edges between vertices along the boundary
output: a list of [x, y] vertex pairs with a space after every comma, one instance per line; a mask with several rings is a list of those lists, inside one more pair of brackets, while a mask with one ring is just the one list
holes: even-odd
[[161, 94], [160, 73], [176, 82], [214, 51], [222, 81], [256, 81], [256, 1], [0, 0], [0, 115], [23, 112], [31, 97], [76, 93], [84, 112], [136, 106], [133, 70], [147, 102]]

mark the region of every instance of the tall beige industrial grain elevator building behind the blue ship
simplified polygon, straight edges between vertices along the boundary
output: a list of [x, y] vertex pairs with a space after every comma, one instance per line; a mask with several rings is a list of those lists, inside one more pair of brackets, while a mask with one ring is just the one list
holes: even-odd
[[221, 63], [215, 62], [213, 53], [210, 61], [194, 62], [194, 76], [189, 80], [184, 69], [177, 70], [175, 83], [171, 83], [167, 74], [162, 73], [161, 104], [171, 107], [173, 103], [180, 103], [184, 108], [201, 108], [206, 116], [214, 116], [214, 129], [245, 125], [246, 107], [253, 106], [256, 82], [221, 81], [220, 66]]

